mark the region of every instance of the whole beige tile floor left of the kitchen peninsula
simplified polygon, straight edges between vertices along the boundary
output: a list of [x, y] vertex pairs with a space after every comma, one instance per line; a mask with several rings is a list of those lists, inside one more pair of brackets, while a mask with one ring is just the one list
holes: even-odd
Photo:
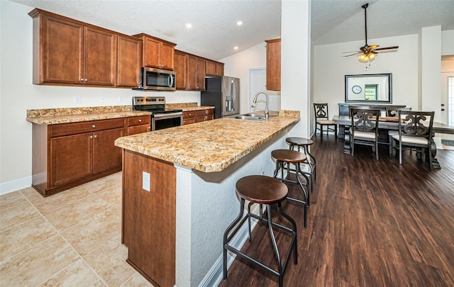
[[47, 198], [0, 196], [0, 286], [152, 286], [127, 252], [121, 172]]

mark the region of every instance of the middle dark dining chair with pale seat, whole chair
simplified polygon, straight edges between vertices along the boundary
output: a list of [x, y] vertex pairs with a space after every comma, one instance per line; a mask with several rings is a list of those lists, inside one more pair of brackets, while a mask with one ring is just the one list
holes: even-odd
[[351, 108], [350, 150], [355, 155], [355, 144], [370, 145], [378, 160], [378, 119], [380, 110], [370, 108]]

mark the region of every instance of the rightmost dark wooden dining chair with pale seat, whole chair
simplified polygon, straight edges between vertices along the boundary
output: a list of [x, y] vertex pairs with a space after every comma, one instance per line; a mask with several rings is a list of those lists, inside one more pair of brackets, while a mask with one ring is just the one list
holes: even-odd
[[423, 162], [426, 161], [427, 153], [429, 167], [433, 169], [431, 145], [434, 114], [434, 111], [399, 111], [399, 134], [392, 135], [392, 155], [395, 156], [396, 150], [399, 150], [399, 164], [402, 164], [402, 150], [414, 150], [421, 155]]

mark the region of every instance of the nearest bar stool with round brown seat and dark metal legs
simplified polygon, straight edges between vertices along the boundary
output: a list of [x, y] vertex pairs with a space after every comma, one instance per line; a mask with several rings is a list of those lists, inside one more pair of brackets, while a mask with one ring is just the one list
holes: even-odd
[[[298, 262], [297, 224], [294, 222], [294, 220], [289, 215], [284, 213], [284, 210], [282, 210], [282, 206], [281, 206], [282, 201], [284, 201], [285, 198], [287, 198], [288, 191], [289, 190], [284, 183], [282, 183], [281, 181], [279, 181], [277, 179], [273, 179], [270, 176], [260, 176], [260, 175], [245, 176], [236, 182], [236, 194], [238, 194], [238, 196], [240, 196], [240, 214], [238, 215], [238, 217], [235, 220], [233, 220], [233, 223], [231, 223], [231, 225], [228, 225], [228, 227], [223, 235], [223, 278], [224, 279], [227, 278], [227, 250], [228, 250], [228, 251], [231, 251], [231, 252], [235, 253], [236, 255], [242, 257], [243, 259], [246, 259], [250, 263], [259, 266], [260, 268], [264, 269], [265, 271], [269, 271], [271, 274], [277, 276], [279, 278], [279, 287], [282, 287], [282, 276], [284, 274], [285, 267], [287, 266], [287, 261], [289, 259], [290, 253], [292, 252], [292, 249], [294, 250], [293, 262], [294, 262], [294, 264], [297, 264], [297, 262]], [[246, 214], [245, 217], [243, 218], [245, 200], [248, 200], [251, 203], [259, 203], [260, 205], [265, 204], [266, 208], [267, 208], [267, 218], [266, 219], [263, 218], [261, 214], [259, 216], [259, 215], [250, 213], [250, 208], [248, 208], [248, 214]], [[284, 218], [287, 218], [287, 220], [289, 220], [289, 222], [292, 224], [292, 228], [285, 227], [283, 225], [272, 222], [271, 205], [274, 203], [277, 204], [277, 210], [279, 210], [279, 213], [282, 216], [284, 216]], [[250, 205], [249, 205], [249, 207], [250, 207]], [[232, 237], [236, 235], [236, 232], [238, 232], [238, 230], [240, 230], [240, 227], [245, 223], [245, 220], [248, 220], [249, 241], [252, 242], [252, 237], [251, 237], [251, 233], [250, 233], [250, 218], [255, 218], [262, 222], [267, 223], [268, 229], [270, 230], [272, 245], [275, 249], [275, 254], [277, 257], [277, 267], [278, 267], [277, 271], [275, 269], [270, 268], [269, 266], [266, 266], [265, 264], [262, 264], [261, 262], [255, 260], [255, 259], [253, 259], [252, 257], [249, 257], [248, 255], [244, 254], [243, 252], [240, 252], [240, 250], [238, 250], [228, 244], [228, 242], [232, 239]], [[240, 224], [238, 224], [239, 222], [240, 222]], [[282, 264], [282, 262], [281, 262], [279, 250], [277, 249], [275, 234], [272, 230], [273, 226], [292, 234], [292, 242], [290, 242], [290, 247], [287, 251], [287, 256], [285, 257], [284, 264]], [[234, 227], [235, 227], [235, 229], [233, 229]], [[231, 232], [231, 230], [233, 230], [233, 231]], [[230, 235], [229, 235], [229, 232], [231, 232]]]

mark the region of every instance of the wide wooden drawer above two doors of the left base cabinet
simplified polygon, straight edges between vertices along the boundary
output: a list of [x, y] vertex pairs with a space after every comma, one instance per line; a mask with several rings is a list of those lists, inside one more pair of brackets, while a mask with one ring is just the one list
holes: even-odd
[[60, 137], [62, 135], [74, 135], [77, 133], [87, 133], [96, 130], [108, 130], [111, 128], [123, 128], [123, 118], [112, 118], [109, 120], [89, 120], [79, 123], [62, 123], [50, 127], [50, 137]]

